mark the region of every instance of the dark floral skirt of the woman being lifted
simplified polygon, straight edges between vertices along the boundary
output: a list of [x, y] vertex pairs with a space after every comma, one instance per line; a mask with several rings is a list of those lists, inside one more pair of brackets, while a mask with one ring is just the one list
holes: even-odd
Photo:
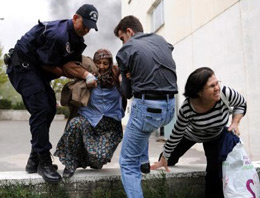
[[69, 170], [101, 169], [111, 161], [123, 136], [120, 121], [103, 117], [94, 128], [83, 116], [71, 119], [57, 144], [55, 156]]

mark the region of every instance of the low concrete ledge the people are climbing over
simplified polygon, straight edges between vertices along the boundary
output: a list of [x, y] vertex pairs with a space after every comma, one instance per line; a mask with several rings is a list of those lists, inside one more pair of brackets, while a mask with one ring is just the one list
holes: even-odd
[[[254, 164], [259, 175], [260, 162]], [[161, 188], [160, 193], [166, 193], [167, 197], [201, 198], [204, 196], [205, 165], [182, 165], [170, 169], [170, 173], [156, 170], [143, 175], [142, 184], [145, 197], [150, 197], [149, 193], [158, 188]], [[62, 171], [59, 172], [62, 174]], [[72, 178], [63, 180], [57, 185], [46, 183], [38, 174], [27, 174], [24, 171], [1, 172], [0, 186], [3, 185], [29, 185], [31, 190], [40, 193], [60, 191], [67, 193], [71, 198], [86, 197], [86, 195], [87, 197], [125, 197], [120, 180], [120, 170], [114, 168], [78, 169]], [[111, 196], [108, 196], [109, 193]]]

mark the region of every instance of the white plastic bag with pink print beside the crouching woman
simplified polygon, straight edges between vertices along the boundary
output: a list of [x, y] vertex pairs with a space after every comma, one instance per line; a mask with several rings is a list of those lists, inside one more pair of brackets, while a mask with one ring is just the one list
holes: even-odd
[[222, 163], [225, 198], [260, 198], [259, 177], [239, 142]]

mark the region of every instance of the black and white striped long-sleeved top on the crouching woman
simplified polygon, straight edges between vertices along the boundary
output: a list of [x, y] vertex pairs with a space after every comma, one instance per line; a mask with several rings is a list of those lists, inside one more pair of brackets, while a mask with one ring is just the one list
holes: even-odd
[[[233, 107], [234, 114], [246, 113], [246, 100], [237, 91], [229, 87], [222, 87], [222, 93]], [[197, 113], [192, 108], [189, 98], [186, 98], [179, 109], [172, 134], [164, 145], [163, 155], [169, 158], [171, 152], [182, 137], [195, 142], [207, 142], [220, 135], [229, 120], [229, 109], [222, 100], [205, 113]]]

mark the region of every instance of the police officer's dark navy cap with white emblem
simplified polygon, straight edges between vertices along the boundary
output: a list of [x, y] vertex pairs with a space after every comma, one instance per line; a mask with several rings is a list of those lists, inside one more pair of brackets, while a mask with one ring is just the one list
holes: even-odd
[[93, 5], [84, 4], [77, 10], [76, 13], [82, 16], [83, 24], [87, 28], [89, 29], [94, 28], [96, 31], [98, 31], [97, 28], [98, 11]]

